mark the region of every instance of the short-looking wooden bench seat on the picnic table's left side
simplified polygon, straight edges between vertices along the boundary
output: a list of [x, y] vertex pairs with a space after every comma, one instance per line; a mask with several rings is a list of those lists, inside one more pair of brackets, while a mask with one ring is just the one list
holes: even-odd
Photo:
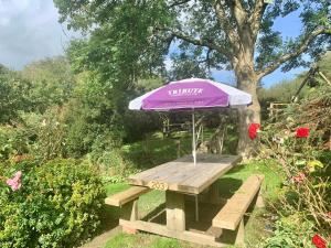
[[140, 195], [149, 192], [150, 188], [148, 187], [141, 187], [141, 186], [131, 186], [130, 188], [120, 192], [118, 194], [111, 195], [105, 200], [105, 203], [107, 205], [111, 206], [122, 206], [128, 202], [134, 201], [135, 198], [138, 198]]

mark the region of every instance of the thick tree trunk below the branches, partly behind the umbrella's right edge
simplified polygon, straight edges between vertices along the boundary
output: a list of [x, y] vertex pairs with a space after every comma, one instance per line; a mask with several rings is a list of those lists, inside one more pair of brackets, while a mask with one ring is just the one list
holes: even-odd
[[[246, 68], [246, 69], [245, 69]], [[248, 68], [248, 69], [247, 69]], [[257, 77], [250, 66], [237, 67], [236, 76], [238, 88], [250, 94], [253, 104], [247, 108], [239, 108], [238, 132], [239, 141], [237, 153], [249, 158], [254, 151], [254, 141], [248, 137], [249, 123], [260, 123], [260, 105], [257, 99]]]

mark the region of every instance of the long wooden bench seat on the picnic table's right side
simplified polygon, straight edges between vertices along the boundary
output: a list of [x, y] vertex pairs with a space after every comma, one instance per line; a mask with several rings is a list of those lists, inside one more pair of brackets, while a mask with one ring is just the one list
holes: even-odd
[[259, 191], [263, 175], [249, 176], [213, 218], [213, 226], [235, 230]]

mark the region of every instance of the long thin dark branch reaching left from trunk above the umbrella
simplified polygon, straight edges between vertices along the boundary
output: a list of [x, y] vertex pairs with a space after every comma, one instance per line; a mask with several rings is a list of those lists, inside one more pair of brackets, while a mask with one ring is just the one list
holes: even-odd
[[183, 40], [183, 41], [186, 41], [193, 45], [199, 45], [199, 46], [205, 46], [205, 47], [209, 47], [210, 50], [215, 50], [217, 51], [218, 53], [222, 53], [224, 54], [228, 60], [232, 60], [233, 55], [231, 54], [231, 51], [215, 44], [212, 40], [210, 39], [194, 39], [192, 36], [190, 36], [189, 34], [185, 34], [181, 31], [174, 31], [174, 30], [171, 30], [169, 28], [160, 28], [158, 26], [157, 30], [162, 30], [162, 31], [167, 31], [167, 32], [170, 32], [171, 35], [180, 39], [180, 40]]

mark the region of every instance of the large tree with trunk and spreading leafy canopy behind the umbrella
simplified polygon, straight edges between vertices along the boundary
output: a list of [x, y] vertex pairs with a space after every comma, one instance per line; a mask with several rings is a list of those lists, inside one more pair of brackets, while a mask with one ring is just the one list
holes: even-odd
[[[54, 2], [60, 21], [88, 34], [84, 64], [93, 65], [104, 79], [118, 73], [124, 76], [113, 78], [111, 85], [134, 84], [145, 77], [207, 76], [211, 68], [233, 69], [237, 86], [253, 95], [253, 105], [239, 110], [241, 153], [249, 150], [247, 126], [260, 121], [259, 80], [279, 67], [308, 66], [331, 44], [328, 0], [275, 0], [271, 4], [265, 0]], [[298, 15], [301, 33], [284, 37], [274, 25], [278, 18], [290, 14]], [[166, 55], [173, 46], [174, 68], [167, 73]]]

